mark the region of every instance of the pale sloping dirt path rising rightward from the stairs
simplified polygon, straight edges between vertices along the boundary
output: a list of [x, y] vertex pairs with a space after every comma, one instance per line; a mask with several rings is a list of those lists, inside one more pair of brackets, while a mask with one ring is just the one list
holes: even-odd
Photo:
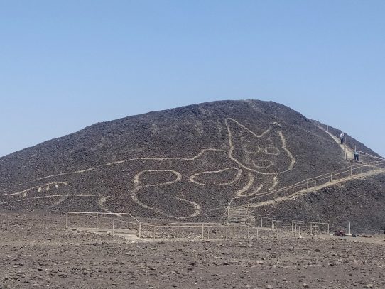
[[[333, 180], [332, 182], [327, 182], [325, 184], [318, 185], [316, 187], [310, 187], [308, 189], [300, 190], [298, 192], [295, 192], [295, 194], [293, 194], [293, 195], [289, 195], [288, 197], [287, 196], [286, 197], [278, 197], [275, 200], [259, 202], [257, 204], [250, 204], [250, 207], [262, 207], [262, 206], [266, 206], [266, 205], [273, 205], [276, 202], [282, 202], [282, 201], [285, 201], [285, 200], [291, 200], [291, 199], [294, 199], [295, 197], [300, 197], [300, 196], [303, 196], [303, 195], [307, 195], [309, 192], [314, 192], [316, 190], [323, 189], [324, 187], [330, 187], [332, 185], [337, 185], [337, 184], [340, 184], [342, 182], [347, 182], [349, 180], [355, 180], [355, 179], [360, 179], [360, 178], [367, 178], [367, 177], [370, 177], [370, 176], [373, 176], [373, 175], [379, 175], [379, 174], [382, 174], [382, 173], [385, 173], [385, 170], [379, 169], [379, 170], [373, 170], [372, 172], [368, 172], [368, 173], [362, 173], [362, 174], [359, 174], [359, 175], [352, 175], [350, 177], [342, 178], [340, 180]], [[242, 207], [245, 207], [245, 206], [246, 205], [244, 205]]]

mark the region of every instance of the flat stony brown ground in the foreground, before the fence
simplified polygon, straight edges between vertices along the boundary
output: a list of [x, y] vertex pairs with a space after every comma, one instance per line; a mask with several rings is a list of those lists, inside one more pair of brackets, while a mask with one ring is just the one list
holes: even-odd
[[140, 242], [0, 219], [0, 288], [385, 288], [385, 235]]

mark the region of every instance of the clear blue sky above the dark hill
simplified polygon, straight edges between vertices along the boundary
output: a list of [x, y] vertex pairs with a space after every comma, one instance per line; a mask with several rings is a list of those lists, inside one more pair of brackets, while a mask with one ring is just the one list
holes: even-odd
[[384, 0], [0, 0], [0, 156], [219, 99], [286, 104], [385, 156], [384, 15]]

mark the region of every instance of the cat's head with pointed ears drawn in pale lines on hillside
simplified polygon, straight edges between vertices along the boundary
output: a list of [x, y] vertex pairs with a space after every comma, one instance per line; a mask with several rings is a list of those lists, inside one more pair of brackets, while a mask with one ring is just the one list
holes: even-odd
[[279, 124], [274, 123], [260, 135], [234, 119], [226, 119], [229, 157], [247, 170], [276, 175], [293, 168], [295, 160], [286, 148]]

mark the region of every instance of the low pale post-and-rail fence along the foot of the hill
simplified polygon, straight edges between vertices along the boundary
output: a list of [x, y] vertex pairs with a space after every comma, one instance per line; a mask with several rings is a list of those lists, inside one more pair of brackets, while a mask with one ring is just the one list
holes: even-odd
[[96, 212], [66, 212], [65, 227], [71, 229], [104, 232], [109, 234], [131, 234], [141, 239], [266, 239], [328, 234], [322, 229], [325, 223], [301, 221], [242, 225], [219, 223], [167, 223], [130, 222], [116, 217], [104, 217]]

